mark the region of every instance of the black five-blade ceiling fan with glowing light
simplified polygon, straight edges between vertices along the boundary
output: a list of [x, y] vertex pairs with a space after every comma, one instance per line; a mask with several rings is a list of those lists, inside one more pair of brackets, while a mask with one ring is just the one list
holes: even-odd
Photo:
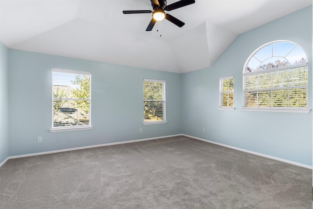
[[149, 23], [146, 31], [151, 31], [156, 22], [162, 21], [164, 18], [176, 24], [177, 26], [182, 27], [185, 23], [181, 22], [179, 19], [173, 17], [170, 14], [166, 14], [164, 11], [171, 11], [193, 3], [195, 3], [195, 0], [179, 0], [170, 5], [166, 5], [167, 4], [166, 0], [151, 0], [154, 12], [151, 10], [125, 10], [123, 11], [123, 13], [124, 14], [153, 13], [152, 20]]

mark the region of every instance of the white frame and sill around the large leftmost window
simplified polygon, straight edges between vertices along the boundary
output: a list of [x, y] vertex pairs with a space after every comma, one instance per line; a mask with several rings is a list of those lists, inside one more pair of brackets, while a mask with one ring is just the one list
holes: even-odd
[[[53, 73], [54, 72], [60, 72], [60, 73], [69, 73], [69, 74], [76, 74], [76, 75], [88, 75], [90, 76], [90, 86], [89, 86], [89, 124], [88, 125], [79, 125], [79, 126], [62, 126], [62, 127], [54, 127], [53, 124], [53, 109], [54, 109], [54, 99], [53, 98]], [[64, 70], [64, 69], [51, 69], [51, 75], [52, 75], [52, 128], [50, 129], [50, 132], [63, 132], [63, 131], [80, 131], [80, 130], [90, 130], [92, 129], [91, 126], [91, 73], [90, 72], [84, 72], [84, 71], [76, 71], [76, 70]]]

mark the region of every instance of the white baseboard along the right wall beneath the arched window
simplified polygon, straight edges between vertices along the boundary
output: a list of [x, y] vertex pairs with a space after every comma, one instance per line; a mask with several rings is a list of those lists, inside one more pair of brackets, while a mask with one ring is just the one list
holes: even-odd
[[281, 161], [281, 162], [284, 162], [284, 163], [290, 163], [290, 164], [293, 164], [293, 165], [297, 165], [297, 166], [301, 166], [301, 167], [313, 169], [313, 166], [310, 166], [310, 165], [306, 165], [306, 164], [302, 164], [302, 163], [297, 163], [297, 162], [285, 160], [285, 159], [282, 159], [282, 158], [276, 158], [276, 157], [273, 157], [273, 156], [270, 156], [270, 155], [265, 155], [265, 154], [262, 154], [262, 153], [253, 152], [253, 151], [250, 151], [250, 150], [241, 149], [241, 148], [234, 147], [234, 146], [229, 146], [229, 145], [222, 144], [222, 143], [218, 143], [218, 142], [215, 142], [215, 141], [210, 141], [210, 140], [206, 140], [206, 139], [201, 139], [201, 138], [197, 138], [197, 137], [193, 137], [193, 136], [189, 136], [189, 135], [185, 135], [185, 134], [182, 134], [182, 136], [190, 137], [190, 138], [193, 138], [193, 139], [198, 139], [198, 140], [205, 141], [205, 142], [209, 142], [209, 143], [213, 143], [213, 144], [217, 144], [217, 145], [224, 146], [224, 147], [228, 147], [228, 148], [231, 148], [231, 149], [236, 149], [236, 150], [239, 150], [239, 151], [242, 151], [242, 152], [246, 152], [246, 153], [250, 153], [250, 154], [253, 154], [253, 155], [262, 156], [262, 157], [269, 158], [269, 159], [273, 159], [273, 160], [276, 160], [276, 161]]

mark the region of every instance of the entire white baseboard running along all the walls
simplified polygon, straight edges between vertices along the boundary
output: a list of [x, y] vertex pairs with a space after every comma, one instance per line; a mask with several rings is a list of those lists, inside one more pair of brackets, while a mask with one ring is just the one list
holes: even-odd
[[97, 145], [84, 146], [84, 147], [75, 147], [75, 148], [69, 148], [69, 149], [53, 150], [53, 151], [48, 151], [48, 152], [39, 152], [39, 153], [31, 153], [31, 154], [25, 154], [25, 155], [10, 156], [10, 157], [7, 157], [2, 163], [0, 163], [0, 167], [4, 163], [6, 163], [9, 159], [25, 158], [25, 157], [31, 157], [31, 156], [37, 156], [37, 155], [46, 155], [46, 154], [53, 154], [53, 153], [58, 153], [58, 152], [67, 152], [67, 151], [74, 151], [74, 150], [80, 150], [80, 149], [89, 149], [89, 148], [94, 148], [94, 147], [110, 146], [110, 145], [125, 144], [125, 143], [133, 143], [133, 142], [139, 142], [139, 141], [147, 141], [147, 140], [153, 140], [153, 139], [163, 139], [163, 138], [178, 137], [178, 136], [190, 137], [190, 138], [193, 138], [193, 139], [198, 139], [198, 140], [201, 140], [201, 141], [217, 144], [217, 145], [220, 145], [220, 146], [228, 147], [228, 148], [231, 148], [231, 149], [239, 150], [239, 151], [250, 153], [250, 154], [253, 154], [253, 155], [262, 156], [262, 157], [273, 159], [273, 160], [276, 160], [276, 161], [281, 161], [281, 162], [284, 162], [284, 163], [290, 163], [290, 164], [293, 164], [293, 165], [297, 165], [297, 166], [313, 169], [313, 166], [310, 166], [310, 165], [306, 165], [306, 164], [302, 164], [302, 163], [296, 163], [296, 162], [285, 160], [285, 159], [282, 159], [282, 158], [276, 158], [276, 157], [265, 155], [265, 154], [261, 154], [261, 153], [258, 153], [258, 152], [253, 152], [253, 151], [250, 151], [250, 150], [241, 149], [241, 148], [238, 148], [238, 147], [229, 146], [229, 145], [226, 145], [226, 144], [222, 144], [222, 143], [218, 143], [218, 142], [214, 142], [214, 141], [210, 141], [210, 140], [206, 140], [206, 139], [201, 139], [201, 138], [198, 138], [198, 137], [193, 137], [193, 136], [189, 136], [189, 135], [185, 135], [185, 134], [177, 134], [177, 135], [170, 135], [170, 136], [164, 136], [164, 137], [155, 137], [155, 138], [148, 138], [148, 139], [136, 139], [136, 140], [130, 140], [130, 141], [120, 141], [120, 142], [113, 142], [113, 143], [106, 143], [106, 144], [97, 144]]

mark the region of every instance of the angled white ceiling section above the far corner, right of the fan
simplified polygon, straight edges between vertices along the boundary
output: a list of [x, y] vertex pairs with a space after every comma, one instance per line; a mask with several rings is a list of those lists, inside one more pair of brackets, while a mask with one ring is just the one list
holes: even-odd
[[208, 68], [237, 35], [204, 22], [171, 42], [181, 73]]

